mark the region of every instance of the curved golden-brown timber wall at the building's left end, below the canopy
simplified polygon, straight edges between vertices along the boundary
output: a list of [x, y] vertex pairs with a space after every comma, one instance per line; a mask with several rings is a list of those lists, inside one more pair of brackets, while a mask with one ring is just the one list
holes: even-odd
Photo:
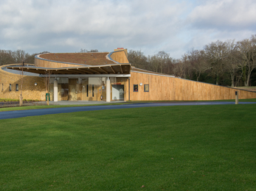
[[[21, 75], [1, 70], [4, 66], [0, 67], [0, 98], [19, 99], [21, 95]], [[37, 83], [36, 86], [35, 83]], [[16, 84], [18, 84], [18, 91], [16, 91]], [[23, 76], [22, 97], [24, 99], [45, 100], [45, 89], [44, 78]]]

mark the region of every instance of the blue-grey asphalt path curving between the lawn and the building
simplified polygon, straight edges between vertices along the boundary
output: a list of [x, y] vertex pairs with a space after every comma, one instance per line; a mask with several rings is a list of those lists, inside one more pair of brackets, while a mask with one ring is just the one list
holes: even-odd
[[[29, 109], [29, 110], [18, 110], [0, 112], [1, 119], [11, 118], [24, 118], [29, 116], [38, 115], [51, 115], [58, 113], [69, 113], [69, 112], [86, 112], [96, 111], [105, 109], [129, 109], [138, 107], [165, 107], [165, 106], [188, 106], [188, 105], [224, 105], [224, 104], [235, 104], [234, 101], [184, 101], [176, 103], [138, 103], [138, 104], [123, 104], [123, 105], [97, 105], [97, 106], [85, 106], [85, 107], [60, 107], [60, 108], [49, 108], [49, 109]], [[239, 102], [239, 104], [256, 104], [256, 102]]]

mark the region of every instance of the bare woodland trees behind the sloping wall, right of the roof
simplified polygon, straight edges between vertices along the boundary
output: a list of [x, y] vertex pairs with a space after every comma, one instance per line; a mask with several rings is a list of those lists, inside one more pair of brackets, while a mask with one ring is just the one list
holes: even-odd
[[165, 51], [146, 57], [142, 51], [128, 51], [128, 60], [136, 68], [167, 73], [183, 79], [225, 86], [256, 85], [256, 35], [236, 42], [217, 40], [203, 49], [192, 49], [181, 59]]

